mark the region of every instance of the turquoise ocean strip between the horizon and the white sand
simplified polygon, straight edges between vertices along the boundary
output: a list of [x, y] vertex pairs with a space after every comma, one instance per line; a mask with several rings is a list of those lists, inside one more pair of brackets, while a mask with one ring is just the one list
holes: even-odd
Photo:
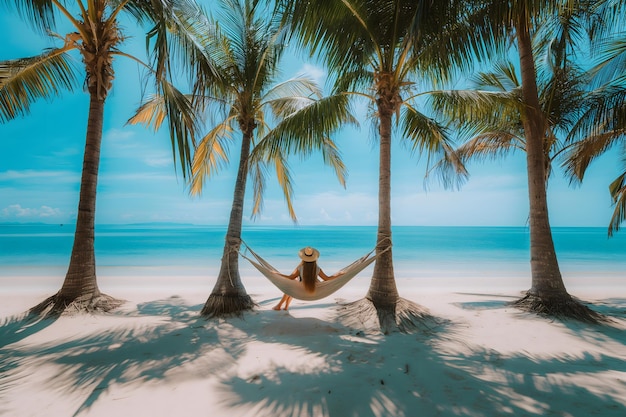
[[[96, 262], [101, 271], [124, 274], [203, 274], [219, 268], [225, 228], [177, 224], [100, 225]], [[626, 278], [626, 232], [608, 238], [606, 228], [554, 228], [562, 271], [593, 271]], [[277, 268], [289, 272], [297, 251], [314, 246], [320, 265], [336, 271], [375, 245], [374, 226], [244, 226], [244, 242]], [[59, 275], [65, 272], [73, 242], [68, 225], [0, 225], [0, 276]], [[245, 253], [245, 251], [244, 251]], [[396, 275], [476, 274], [528, 271], [527, 227], [393, 228]], [[241, 262], [243, 272], [252, 271]], [[626, 282], [626, 279], [625, 279]]]

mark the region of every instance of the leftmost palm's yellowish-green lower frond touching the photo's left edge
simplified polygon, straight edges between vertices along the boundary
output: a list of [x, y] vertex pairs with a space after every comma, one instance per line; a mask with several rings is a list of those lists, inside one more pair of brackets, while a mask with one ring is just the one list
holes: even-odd
[[39, 56], [0, 62], [0, 121], [27, 114], [38, 99], [72, 91], [76, 69], [67, 51], [50, 49]]

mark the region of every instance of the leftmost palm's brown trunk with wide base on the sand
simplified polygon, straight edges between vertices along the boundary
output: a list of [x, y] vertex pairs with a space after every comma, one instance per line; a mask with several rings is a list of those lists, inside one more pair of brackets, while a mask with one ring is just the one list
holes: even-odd
[[96, 93], [90, 95], [89, 119], [85, 140], [85, 155], [80, 183], [80, 199], [74, 245], [70, 265], [61, 290], [33, 307], [36, 314], [60, 314], [68, 308], [87, 311], [109, 311], [122, 302], [100, 293], [96, 280], [94, 252], [96, 188], [100, 165], [100, 144], [104, 99]]

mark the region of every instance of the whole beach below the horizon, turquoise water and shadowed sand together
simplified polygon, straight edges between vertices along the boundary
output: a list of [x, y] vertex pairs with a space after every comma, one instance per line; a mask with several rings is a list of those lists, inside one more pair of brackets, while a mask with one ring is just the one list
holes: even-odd
[[[510, 306], [530, 282], [526, 262], [516, 261], [527, 251], [526, 228], [469, 229], [396, 230], [399, 292], [436, 322], [384, 335], [341, 314], [342, 304], [367, 292], [372, 267], [330, 297], [274, 311], [280, 291], [242, 260], [257, 307], [239, 318], [203, 318], [220, 244], [182, 258], [180, 249], [223, 229], [171, 225], [99, 229], [98, 279], [126, 300], [119, 309], [24, 321], [57, 291], [66, 255], [50, 248], [71, 243], [72, 233], [14, 226], [0, 234], [4, 248], [15, 242], [11, 255], [0, 255], [0, 415], [622, 416], [623, 239], [607, 241], [600, 228], [555, 231], [569, 291], [611, 319], [592, 325]], [[280, 244], [285, 236], [294, 247], [315, 242], [320, 265], [333, 273], [365, 254], [373, 232], [252, 228], [245, 239], [285, 273], [297, 259]], [[439, 246], [433, 236], [459, 239]], [[478, 237], [493, 244], [479, 247]], [[604, 255], [584, 244], [596, 239], [609, 245]], [[17, 247], [34, 241], [40, 260], [20, 264], [26, 249]], [[133, 253], [134, 245], [146, 249]], [[472, 248], [471, 259], [455, 255]]]

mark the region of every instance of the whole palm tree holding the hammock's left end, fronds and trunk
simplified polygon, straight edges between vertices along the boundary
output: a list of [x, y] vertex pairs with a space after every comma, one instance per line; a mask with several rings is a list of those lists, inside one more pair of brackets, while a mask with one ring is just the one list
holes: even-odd
[[[257, 0], [223, 0], [214, 30], [198, 38], [204, 59], [221, 79], [207, 80], [200, 69], [189, 100], [198, 112], [213, 110], [223, 120], [212, 126], [195, 150], [191, 192], [198, 194], [205, 179], [217, 174], [227, 161], [228, 143], [241, 134], [233, 205], [226, 232], [217, 282], [201, 314], [207, 317], [240, 315], [254, 307], [239, 275], [239, 248], [248, 176], [254, 185], [253, 215], [262, 208], [265, 175], [270, 166], [285, 195], [292, 219], [293, 189], [288, 156], [322, 152], [344, 183], [345, 167], [328, 134], [345, 123], [356, 123], [348, 112], [347, 99], [337, 95], [321, 98], [311, 80], [300, 77], [276, 83], [278, 65], [285, 48], [280, 15]], [[161, 119], [159, 98], [146, 103], [131, 122]], [[272, 123], [275, 123], [273, 127]]]

